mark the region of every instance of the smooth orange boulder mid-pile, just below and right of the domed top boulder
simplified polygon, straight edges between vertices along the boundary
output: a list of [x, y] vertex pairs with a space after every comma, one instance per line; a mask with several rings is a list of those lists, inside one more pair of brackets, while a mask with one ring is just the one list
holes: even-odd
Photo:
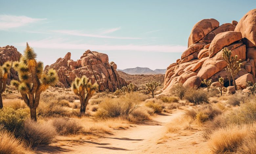
[[209, 57], [213, 57], [222, 48], [231, 45], [232, 43], [242, 39], [240, 32], [226, 31], [217, 34], [209, 47]]

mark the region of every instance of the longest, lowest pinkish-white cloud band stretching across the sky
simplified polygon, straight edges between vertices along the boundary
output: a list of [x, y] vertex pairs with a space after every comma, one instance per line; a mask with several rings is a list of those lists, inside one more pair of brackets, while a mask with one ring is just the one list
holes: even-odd
[[[149, 51], [149, 52], [183, 52], [187, 47], [179, 45], [90, 45], [86, 43], [70, 42], [64, 39], [43, 39], [39, 41], [28, 41], [34, 48], [51, 49], [82, 49], [94, 51]], [[25, 42], [17, 43], [15, 46], [24, 46]]]

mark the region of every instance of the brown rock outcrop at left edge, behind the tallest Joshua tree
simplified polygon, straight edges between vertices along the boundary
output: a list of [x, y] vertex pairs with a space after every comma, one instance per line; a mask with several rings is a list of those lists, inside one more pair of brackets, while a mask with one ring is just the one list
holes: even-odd
[[[6, 61], [19, 61], [21, 56], [21, 53], [13, 46], [0, 47], [0, 66]], [[11, 79], [18, 79], [17, 72], [13, 68], [11, 68], [10, 74], [8, 74], [7, 84], [10, 84]]]

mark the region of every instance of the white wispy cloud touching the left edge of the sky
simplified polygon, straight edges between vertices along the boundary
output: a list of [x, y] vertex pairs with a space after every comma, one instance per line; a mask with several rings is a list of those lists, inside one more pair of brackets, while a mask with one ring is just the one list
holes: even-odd
[[0, 15], [0, 30], [22, 27], [42, 20], [46, 20], [46, 18], [39, 19], [27, 16]]

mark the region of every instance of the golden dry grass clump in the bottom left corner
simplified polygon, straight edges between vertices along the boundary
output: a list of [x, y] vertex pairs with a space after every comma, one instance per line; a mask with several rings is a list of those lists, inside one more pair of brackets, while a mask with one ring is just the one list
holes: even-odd
[[0, 127], [0, 153], [15, 154], [25, 153], [24, 144], [16, 139], [13, 133]]

